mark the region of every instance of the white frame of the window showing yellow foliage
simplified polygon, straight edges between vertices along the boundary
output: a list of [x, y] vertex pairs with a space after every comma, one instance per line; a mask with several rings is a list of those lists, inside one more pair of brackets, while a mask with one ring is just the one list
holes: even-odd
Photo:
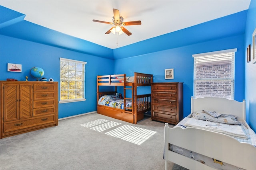
[[[83, 86], [83, 98], [78, 98], [78, 99], [67, 99], [67, 100], [61, 100], [61, 92], [62, 92], [62, 87], [61, 87], [61, 82], [62, 82], [62, 80], [65, 80], [65, 79], [63, 79], [62, 78], [62, 76], [61, 76], [61, 71], [62, 71], [62, 66], [61, 66], [61, 62], [62, 61], [68, 61], [68, 62], [72, 62], [72, 63], [79, 63], [79, 64], [84, 64], [84, 66], [83, 66], [83, 71], [82, 71], [82, 74], [83, 74], [83, 76], [82, 76], [82, 83], [84, 84], [84, 86]], [[84, 61], [78, 61], [78, 60], [72, 60], [72, 59], [66, 59], [66, 58], [60, 58], [60, 101], [59, 101], [59, 103], [60, 104], [62, 104], [62, 103], [70, 103], [70, 102], [81, 102], [81, 101], [85, 101], [86, 100], [86, 98], [85, 98], [85, 72], [86, 72], [86, 69], [85, 69], [85, 65], [87, 64], [87, 62], [84, 62]], [[69, 69], [68, 69], [69, 70]], [[74, 70], [72, 70], [72, 71], [74, 71]], [[76, 71], [75, 71], [76, 72]], [[70, 80], [69, 78], [68, 79], [66, 79], [66, 80]], [[73, 80], [73, 81], [76, 81], [76, 80]]]

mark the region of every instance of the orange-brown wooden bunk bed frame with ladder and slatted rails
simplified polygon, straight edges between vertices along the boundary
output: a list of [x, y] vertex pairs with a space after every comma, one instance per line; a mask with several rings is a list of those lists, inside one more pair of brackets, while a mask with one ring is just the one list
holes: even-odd
[[[144, 118], [144, 113], [151, 110], [151, 94], [138, 95], [137, 87], [151, 86], [152, 82], [152, 74], [144, 74], [138, 72], [134, 72], [134, 82], [126, 82], [126, 74], [97, 76], [97, 113], [137, 124], [138, 121]], [[115, 91], [100, 92], [100, 86], [115, 86]], [[124, 103], [126, 103], [127, 99], [132, 100], [134, 105], [132, 105], [131, 109], [127, 107], [124, 107], [124, 109], [118, 109], [98, 104], [100, 97], [107, 94], [115, 95], [117, 93], [117, 86], [123, 86], [124, 88]], [[126, 97], [126, 90], [132, 91], [131, 98]]]

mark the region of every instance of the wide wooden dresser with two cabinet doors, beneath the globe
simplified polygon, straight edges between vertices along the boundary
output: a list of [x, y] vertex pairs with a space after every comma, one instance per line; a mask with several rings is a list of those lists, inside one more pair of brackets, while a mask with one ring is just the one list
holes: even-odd
[[58, 82], [0, 81], [0, 139], [58, 125]]

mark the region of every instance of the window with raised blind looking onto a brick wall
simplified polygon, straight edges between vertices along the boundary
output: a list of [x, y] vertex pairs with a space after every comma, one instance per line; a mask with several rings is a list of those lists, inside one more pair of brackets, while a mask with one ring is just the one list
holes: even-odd
[[235, 52], [230, 49], [193, 55], [194, 98], [234, 100]]

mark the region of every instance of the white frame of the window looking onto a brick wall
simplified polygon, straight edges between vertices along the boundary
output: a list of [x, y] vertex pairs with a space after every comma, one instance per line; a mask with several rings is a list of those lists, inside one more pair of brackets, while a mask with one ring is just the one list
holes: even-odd
[[[213, 51], [213, 52], [209, 52], [209, 53], [200, 53], [200, 54], [195, 54], [195, 55], [192, 55], [192, 57], [194, 58], [194, 69], [193, 69], [193, 96], [194, 98], [203, 98], [204, 97], [209, 97], [209, 95], [205, 94], [205, 93], [202, 93], [203, 95], [197, 95], [198, 94], [198, 91], [197, 91], [197, 88], [196, 88], [196, 82], [198, 81], [208, 81], [208, 82], [217, 82], [217, 81], [221, 81], [221, 82], [224, 82], [224, 81], [229, 81], [230, 82], [230, 89], [231, 89], [231, 92], [229, 94], [230, 98], [228, 98], [229, 100], [234, 100], [234, 82], [235, 82], [235, 53], [236, 53], [237, 49], [228, 49], [228, 50], [221, 50], [221, 51]], [[200, 78], [198, 78], [198, 74], [197, 74], [197, 66], [198, 66], [198, 63], [196, 63], [196, 57], [207, 57], [207, 56], [211, 56], [211, 55], [221, 55], [221, 54], [225, 54], [225, 53], [232, 53], [231, 55], [231, 61], [229, 62], [231, 65], [232, 65], [232, 72], [230, 73], [230, 77], [228, 78], [220, 78], [220, 77], [216, 77], [216, 78], [202, 78], [202, 76]], [[225, 61], [210, 61], [210, 62], [204, 62], [204, 64], [201, 64], [201, 66], [214, 66], [214, 65], [218, 65], [218, 64], [222, 64], [224, 65], [225, 64]], [[211, 76], [213, 76], [213, 74], [211, 74]], [[210, 86], [210, 85], [209, 85]], [[209, 91], [210, 92], [210, 91]], [[227, 96], [212, 96], [212, 97], [217, 97], [217, 98], [227, 98]]]

